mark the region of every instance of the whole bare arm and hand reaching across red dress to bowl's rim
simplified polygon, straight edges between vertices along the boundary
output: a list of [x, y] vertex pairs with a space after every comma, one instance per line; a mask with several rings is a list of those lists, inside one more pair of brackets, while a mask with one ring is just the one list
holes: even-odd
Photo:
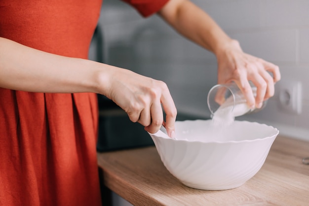
[[[155, 133], [163, 124], [170, 137], [177, 110], [166, 84], [127, 69], [33, 49], [0, 37], [0, 87], [44, 93], [95, 92], [127, 112], [132, 122]], [[161, 106], [162, 104], [162, 106]]]

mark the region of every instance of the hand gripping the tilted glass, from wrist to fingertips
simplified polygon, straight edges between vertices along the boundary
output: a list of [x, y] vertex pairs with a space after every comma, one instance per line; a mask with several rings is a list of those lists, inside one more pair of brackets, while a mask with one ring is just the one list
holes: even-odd
[[[278, 66], [244, 53], [236, 40], [221, 48], [216, 56], [218, 84], [234, 81], [250, 108], [261, 108], [263, 101], [274, 95], [274, 83], [281, 78]], [[249, 81], [257, 87], [256, 98]]]

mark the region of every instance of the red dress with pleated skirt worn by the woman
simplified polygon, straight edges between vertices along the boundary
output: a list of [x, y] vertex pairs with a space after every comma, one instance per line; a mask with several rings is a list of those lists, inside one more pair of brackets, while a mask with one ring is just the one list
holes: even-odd
[[[141, 0], [133, 4], [148, 16], [165, 1], [149, 0], [142, 8]], [[1, 0], [0, 36], [87, 59], [101, 4], [102, 0]], [[96, 94], [0, 88], [0, 205], [101, 205], [97, 121]]]

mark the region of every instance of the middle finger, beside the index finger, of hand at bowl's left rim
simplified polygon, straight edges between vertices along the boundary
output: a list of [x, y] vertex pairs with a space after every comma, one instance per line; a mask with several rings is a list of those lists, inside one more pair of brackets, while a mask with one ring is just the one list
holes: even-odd
[[150, 108], [151, 111], [151, 123], [145, 127], [145, 130], [149, 133], [156, 133], [163, 122], [163, 111], [159, 100], [155, 101]]

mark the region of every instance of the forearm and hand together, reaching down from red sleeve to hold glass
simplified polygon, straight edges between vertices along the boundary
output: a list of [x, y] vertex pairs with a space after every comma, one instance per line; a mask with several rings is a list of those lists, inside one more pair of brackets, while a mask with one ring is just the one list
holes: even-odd
[[[238, 41], [231, 39], [192, 1], [169, 0], [159, 14], [180, 34], [216, 55], [218, 84], [234, 81], [244, 94], [248, 106], [260, 108], [264, 100], [274, 95], [274, 83], [280, 80], [279, 68], [245, 54]], [[257, 87], [256, 98], [249, 81]]]

